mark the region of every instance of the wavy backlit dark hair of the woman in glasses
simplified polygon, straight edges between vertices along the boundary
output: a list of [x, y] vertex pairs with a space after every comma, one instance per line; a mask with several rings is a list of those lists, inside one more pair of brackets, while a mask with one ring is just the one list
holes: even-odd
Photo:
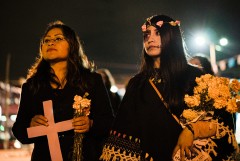
[[50, 64], [43, 59], [41, 51], [43, 39], [47, 33], [54, 28], [60, 29], [63, 32], [63, 36], [66, 41], [69, 43], [66, 75], [68, 84], [76, 86], [82, 90], [87, 89], [86, 76], [87, 73], [90, 73], [92, 64], [88, 61], [87, 56], [84, 54], [82, 44], [80, 43], [80, 39], [76, 32], [69, 26], [63, 24], [61, 21], [51, 22], [47, 26], [40, 41], [40, 54], [34, 65], [28, 71], [27, 81], [31, 82], [31, 88], [34, 89], [34, 92], [37, 92], [40, 86], [48, 86], [49, 82], [55, 83], [58, 86], [60, 85], [60, 82], [56, 78]]

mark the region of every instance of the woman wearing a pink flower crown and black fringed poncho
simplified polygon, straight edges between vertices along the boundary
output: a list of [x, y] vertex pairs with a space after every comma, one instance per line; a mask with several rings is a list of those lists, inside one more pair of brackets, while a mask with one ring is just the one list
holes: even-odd
[[[218, 123], [226, 127], [222, 135], [217, 122], [197, 121], [185, 127], [180, 122], [187, 108], [184, 96], [193, 94], [196, 77], [203, 75], [200, 69], [187, 63], [180, 21], [155, 15], [146, 19], [142, 33], [141, 70], [127, 85], [100, 159], [171, 161], [193, 160], [195, 156], [199, 161], [230, 159], [237, 148], [233, 146], [236, 144], [231, 133], [234, 127], [231, 114], [216, 113]], [[194, 147], [197, 138], [214, 138], [215, 144]]]

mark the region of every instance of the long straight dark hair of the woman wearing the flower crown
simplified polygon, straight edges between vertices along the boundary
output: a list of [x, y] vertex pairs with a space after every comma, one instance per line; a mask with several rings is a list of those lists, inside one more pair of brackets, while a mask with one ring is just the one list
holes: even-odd
[[[163, 21], [160, 27], [157, 22]], [[186, 49], [179, 25], [165, 15], [156, 15], [147, 18], [144, 25], [154, 26], [161, 36], [160, 73], [164, 81], [163, 96], [170, 109], [174, 113], [180, 113], [179, 105], [183, 103], [184, 74], [188, 67]], [[151, 76], [154, 71], [153, 59], [143, 49], [141, 72]]]

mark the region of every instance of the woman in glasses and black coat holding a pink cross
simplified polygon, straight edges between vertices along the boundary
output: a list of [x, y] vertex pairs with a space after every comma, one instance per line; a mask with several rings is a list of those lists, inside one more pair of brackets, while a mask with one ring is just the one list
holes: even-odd
[[59, 155], [51, 155], [56, 148], [50, 149], [46, 135], [28, 137], [27, 129], [50, 126], [43, 110], [47, 100], [52, 101], [55, 123], [69, 120], [73, 128], [57, 134], [62, 153], [57, 161], [96, 161], [100, 157], [113, 114], [101, 75], [92, 67], [76, 32], [60, 21], [50, 23], [40, 42], [40, 55], [22, 85], [12, 128], [21, 143], [34, 143], [32, 161], [51, 161]]

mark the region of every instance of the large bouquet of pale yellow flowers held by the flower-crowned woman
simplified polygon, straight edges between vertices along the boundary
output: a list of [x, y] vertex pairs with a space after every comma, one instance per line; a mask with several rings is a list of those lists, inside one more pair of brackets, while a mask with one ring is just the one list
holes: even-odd
[[185, 95], [187, 105], [182, 113], [181, 123], [186, 125], [198, 120], [212, 119], [215, 110], [238, 112], [237, 102], [240, 101], [240, 83], [233, 79], [205, 74], [196, 78], [197, 86], [193, 96]]

